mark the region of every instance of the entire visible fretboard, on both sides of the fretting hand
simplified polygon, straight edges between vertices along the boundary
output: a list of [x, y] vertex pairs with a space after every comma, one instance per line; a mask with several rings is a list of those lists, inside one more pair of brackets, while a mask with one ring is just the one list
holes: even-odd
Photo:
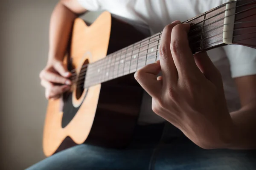
[[[193, 53], [227, 45], [223, 41], [224, 26], [230, 23], [225, 23], [225, 19], [235, 15], [236, 3], [234, 2], [238, 1], [225, 3], [185, 22], [191, 24], [188, 38]], [[234, 20], [231, 24], [233, 22]], [[90, 63], [87, 66], [84, 88], [134, 73], [145, 65], [156, 62], [159, 59], [161, 35], [162, 32], [154, 34], [109, 54], [104, 59]], [[232, 39], [232, 37], [228, 38]]]

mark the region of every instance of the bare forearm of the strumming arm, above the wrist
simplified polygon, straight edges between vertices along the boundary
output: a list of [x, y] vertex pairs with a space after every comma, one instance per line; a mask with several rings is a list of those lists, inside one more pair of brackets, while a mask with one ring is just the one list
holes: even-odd
[[52, 12], [49, 27], [49, 58], [63, 60], [73, 22], [78, 14], [59, 2]]

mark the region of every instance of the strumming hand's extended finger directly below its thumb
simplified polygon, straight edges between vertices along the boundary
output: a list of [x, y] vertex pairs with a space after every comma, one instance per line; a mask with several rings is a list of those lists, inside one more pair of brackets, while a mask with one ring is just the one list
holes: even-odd
[[71, 81], [69, 79], [64, 78], [56, 73], [49, 72], [49, 71], [45, 71], [43, 73], [42, 78], [49, 82], [52, 82], [52, 83], [71, 85]]

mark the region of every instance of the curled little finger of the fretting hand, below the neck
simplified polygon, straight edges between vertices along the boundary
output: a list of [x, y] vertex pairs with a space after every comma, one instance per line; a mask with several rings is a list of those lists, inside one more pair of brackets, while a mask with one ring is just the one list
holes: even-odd
[[162, 84], [157, 81], [157, 74], [159, 74], [160, 70], [160, 62], [157, 61], [146, 65], [134, 74], [137, 82], [153, 98], [161, 96]]

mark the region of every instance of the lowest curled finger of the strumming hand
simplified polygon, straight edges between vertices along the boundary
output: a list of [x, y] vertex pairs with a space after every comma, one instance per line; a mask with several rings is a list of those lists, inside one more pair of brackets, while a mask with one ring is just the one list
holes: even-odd
[[47, 99], [55, 98], [56, 96], [59, 96], [69, 90], [70, 90], [70, 86], [68, 85], [61, 85], [61, 86], [55, 85], [52, 88], [46, 89], [46, 98]]

